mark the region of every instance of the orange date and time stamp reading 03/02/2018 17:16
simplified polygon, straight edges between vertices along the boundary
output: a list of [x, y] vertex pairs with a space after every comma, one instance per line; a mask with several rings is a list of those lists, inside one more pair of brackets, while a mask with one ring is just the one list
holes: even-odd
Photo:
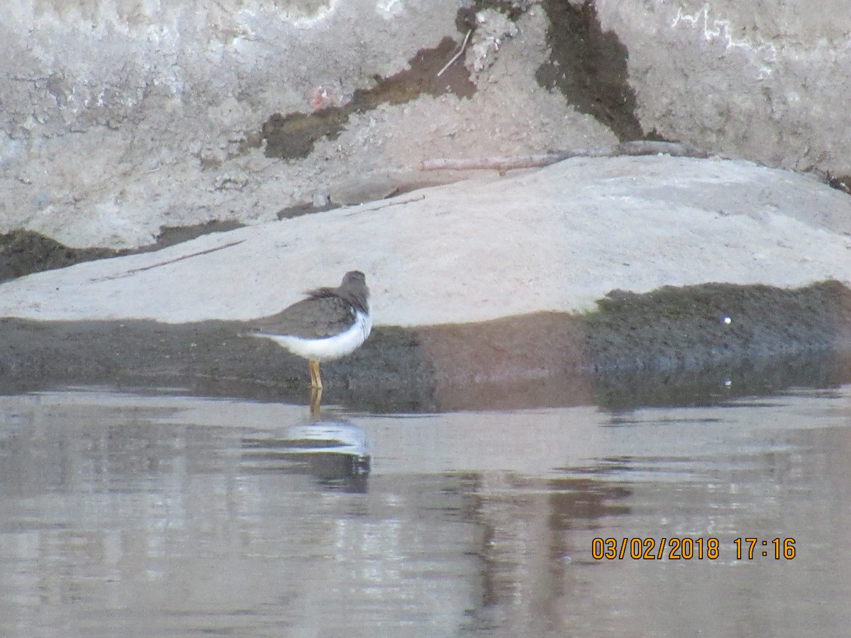
[[[743, 559], [752, 561], [759, 556], [768, 557], [780, 561], [785, 558], [791, 561], [795, 558], [794, 538], [771, 538], [761, 540], [760, 538], [736, 538], [733, 541], [736, 560]], [[656, 538], [594, 538], [591, 541], [591, 558], [596, 561], [624, 560], [630, 558], [635, 561], [691, 561], [710, 560], [720, 558], [722, 544], [715, 537], [689, 538], [689, 537], [663, 537]]]

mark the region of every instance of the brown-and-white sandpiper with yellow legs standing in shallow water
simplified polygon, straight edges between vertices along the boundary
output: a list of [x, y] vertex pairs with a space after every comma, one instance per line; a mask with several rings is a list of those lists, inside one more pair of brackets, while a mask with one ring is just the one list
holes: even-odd
[[317, 288], [307, 298], [254, 322], [254, 337], [266, 337], [309, 362], [311, 388], [322, 389], [319, 362], [357, 350], [372, 330], [369, 288], [361, 271], [349, 271], [337, 288]]

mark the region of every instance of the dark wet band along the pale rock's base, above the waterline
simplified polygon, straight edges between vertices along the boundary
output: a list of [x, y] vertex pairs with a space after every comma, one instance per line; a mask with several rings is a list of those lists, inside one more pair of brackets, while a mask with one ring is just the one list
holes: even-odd
[[[244, 336], [240, 322], [6, 318], [0, 327], [3, 393], [112, 385], [309, 397], [306, 362]], [[851, 290], [837, 282], [615, 291], [585, 315], [374, 328], [363, 348], [323, 364], [323, 402], [374, 412], [722, 402], [847, 381], [849, 353]]]

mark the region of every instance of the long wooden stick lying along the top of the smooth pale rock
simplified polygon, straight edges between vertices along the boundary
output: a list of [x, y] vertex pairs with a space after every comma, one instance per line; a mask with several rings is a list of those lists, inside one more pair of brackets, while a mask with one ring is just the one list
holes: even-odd
[[512, 157], [465, 157], [451, 159], [438, 157], [420, 162], [420, 170], [498, 170], [500, 173], [515, 168], [535, 168], [549, 166], [556, 162], [568, 159], [568, 157], [618, 157], [621, 155], [658, 155], [665, 154], [671, 157], [710, 157], [709, 151], [694, 146], [680, 144], [678, 142], [654, 142], [637, 140], [624, 142], [612, 146], [598, 146], [590, 149], [573, 149], [571, 151], [557, 151], [544, 153], [542, 155], [517, 155]]

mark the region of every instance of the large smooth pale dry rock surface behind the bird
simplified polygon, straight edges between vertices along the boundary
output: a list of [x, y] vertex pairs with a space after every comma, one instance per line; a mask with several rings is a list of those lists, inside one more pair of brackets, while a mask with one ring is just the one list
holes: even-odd
[[249, 319], [367, 274], [376, 322], [588, 310], [612, 289], [851, 282], [851, 200], [750, 162], [576, 158], [0, 286], [0, 316]]

